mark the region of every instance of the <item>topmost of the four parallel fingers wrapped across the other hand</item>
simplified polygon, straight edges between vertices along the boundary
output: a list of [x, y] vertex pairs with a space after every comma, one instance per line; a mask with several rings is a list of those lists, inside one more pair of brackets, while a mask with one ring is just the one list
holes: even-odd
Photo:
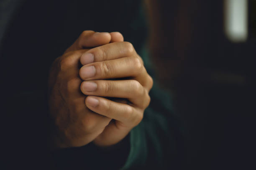
[[115, 42], [90, 49], [80, 58], [80, 62], [82, 65], [85, 65], [92, 62], [107, 61], [135, 55], [137, 55], [137, 53], [131, 43]]

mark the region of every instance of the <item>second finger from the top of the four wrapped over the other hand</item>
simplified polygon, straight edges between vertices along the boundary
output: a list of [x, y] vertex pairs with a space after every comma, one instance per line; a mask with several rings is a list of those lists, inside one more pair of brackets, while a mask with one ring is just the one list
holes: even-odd
[[79, 71], [83, 80], [123, 78], [138, 76], [142, 73], [146, 73], [146, 69], [137, 57], [90, 63], [82, 66]]

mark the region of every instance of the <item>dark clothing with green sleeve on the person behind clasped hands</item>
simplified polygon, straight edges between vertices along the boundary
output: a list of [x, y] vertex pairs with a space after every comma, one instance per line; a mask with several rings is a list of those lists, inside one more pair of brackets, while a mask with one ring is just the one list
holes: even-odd
[[[33, 169], [179, 169], [182, 133], [168, 93], [155, 83], [142, 122], [111, 150], [92, 143], [49, 152], [47, 79], [51, 63], [83, 30], [119, 31], [145, 61], [146, 19], [141, 1], [24, 0], [11, 15], [1, 46], [4, 59], [8, 167]], [[11, 91], [11, 92], [10, 92]], [[125, 146], [125, 147], [123, 147]], [[116, 160], [116, 164], [109, 164]]]

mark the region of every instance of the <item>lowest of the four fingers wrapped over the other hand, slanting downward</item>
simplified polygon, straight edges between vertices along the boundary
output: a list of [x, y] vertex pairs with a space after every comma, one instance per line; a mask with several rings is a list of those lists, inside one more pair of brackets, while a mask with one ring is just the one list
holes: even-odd
[[136, 124], [143, 118], [138, 109], [102, 97], [87, 96], [85, 104], [93, 112], [128, 124]]

